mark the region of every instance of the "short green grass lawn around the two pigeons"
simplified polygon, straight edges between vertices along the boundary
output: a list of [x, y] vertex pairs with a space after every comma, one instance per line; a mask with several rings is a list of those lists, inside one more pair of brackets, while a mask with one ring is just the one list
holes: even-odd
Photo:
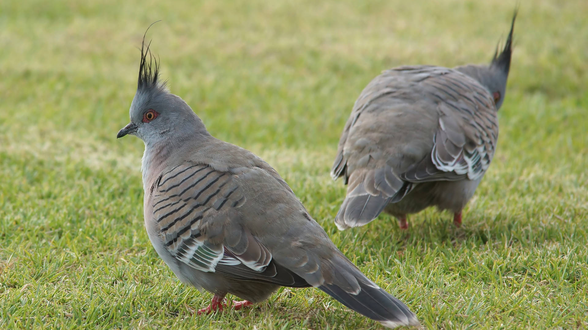
[[340, 232], [329, 169], [381, 70], [486, 62], [512, 1], [0, 2], [1, 329], [381, 329], [317, 289], [247, 311], [176, 280], [143, 228], [128, 123], [143, 32], [210, 132], [272, 164], [429, 329], [588, 327], [585, 0], [520, 4], [495, 160], [462, 228], [435, 210]]

